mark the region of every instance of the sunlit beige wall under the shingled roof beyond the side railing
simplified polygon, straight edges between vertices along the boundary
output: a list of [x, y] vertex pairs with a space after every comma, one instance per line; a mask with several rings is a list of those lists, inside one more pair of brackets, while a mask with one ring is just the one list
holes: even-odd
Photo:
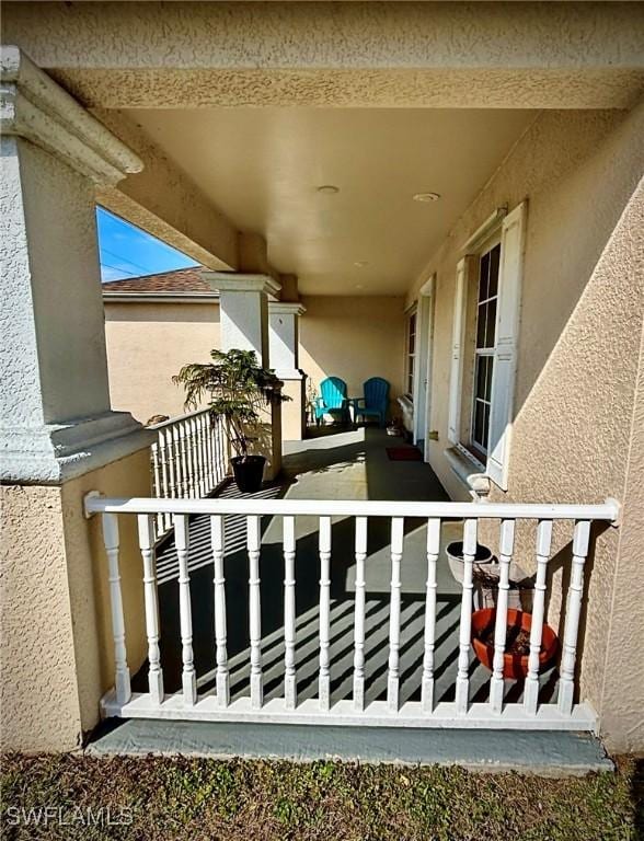
[[112, 407], [146, 423], [184, 413], [172, 377], [186, 362], [207, 362], [219, 346], [219, 304], [105, 301]]

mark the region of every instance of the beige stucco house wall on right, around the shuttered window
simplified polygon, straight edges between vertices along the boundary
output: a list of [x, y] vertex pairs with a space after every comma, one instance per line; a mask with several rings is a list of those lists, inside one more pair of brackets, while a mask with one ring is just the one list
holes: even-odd
[[[493, 491], [492, 498], [624, 500], [644, 312], [644, 211], [641, 191], [635, 195], [643, 134], [644, 106], [631, 113], [539, 115], [411, 290], [410, 300], [436, 272], [430, 425], [439, 440], [430, 445], [430, 463], [453, 498], [467, 498], [444, 456], [459, 247], [496, 207], [513, 208], [527, 197], [509, 491]], [[641, 520], [639, 527], [629, 526], [640, 535]], [[519, 535], [519, 548], [527, 540]], [[556, 549], [562, 541], [559, 535]], [[629, 606], [642, 610], [644, 601], [641, 576], [620, 573], [616, 579], [618, 569], [631, 569], [633, 563], [632, 557], [620, 560], [618, 566], [618, 530], [605, 531], [588, 564], [582, 694], [601, 713], [610, 745], [643, 747], [633, 708], [633, 699], [642, 699], [642, 671], [608, 679], [608, 664], [618, 650], [636, 657], [629, 622], [613, 622], [610, 641], [606, 633], [621, 610], [623, 588], [636, 594]], [[527, 554], [522, 561], [530, 568]], [[555, 592], [555, 623], [559, 603]]]

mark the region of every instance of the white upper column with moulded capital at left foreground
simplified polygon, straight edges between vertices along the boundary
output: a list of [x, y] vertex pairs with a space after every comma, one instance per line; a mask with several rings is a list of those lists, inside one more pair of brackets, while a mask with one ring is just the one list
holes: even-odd
[[141, 164], [15, 47], [1, 129], [1, 475], [58, 483], [146, 442], [110, 407], [94, 203]]

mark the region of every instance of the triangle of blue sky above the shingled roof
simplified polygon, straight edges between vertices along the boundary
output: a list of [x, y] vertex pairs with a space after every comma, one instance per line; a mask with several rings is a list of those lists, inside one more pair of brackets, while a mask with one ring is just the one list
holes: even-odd
[[96, 222], [103, 283], [198, 265], [181, 251], [102, 207], [96, 208]]

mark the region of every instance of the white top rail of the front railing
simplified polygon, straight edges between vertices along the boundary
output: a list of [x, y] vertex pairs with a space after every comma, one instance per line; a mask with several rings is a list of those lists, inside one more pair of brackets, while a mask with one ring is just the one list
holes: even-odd
[[606, 520], [619, 518], [619, 503], [600, 505], [539, 503], [418, 503], [377, 499], [153, 499], [85, 497], [90, 514], [207, 514], [314, 517], [417, 517], [453, 519]]

